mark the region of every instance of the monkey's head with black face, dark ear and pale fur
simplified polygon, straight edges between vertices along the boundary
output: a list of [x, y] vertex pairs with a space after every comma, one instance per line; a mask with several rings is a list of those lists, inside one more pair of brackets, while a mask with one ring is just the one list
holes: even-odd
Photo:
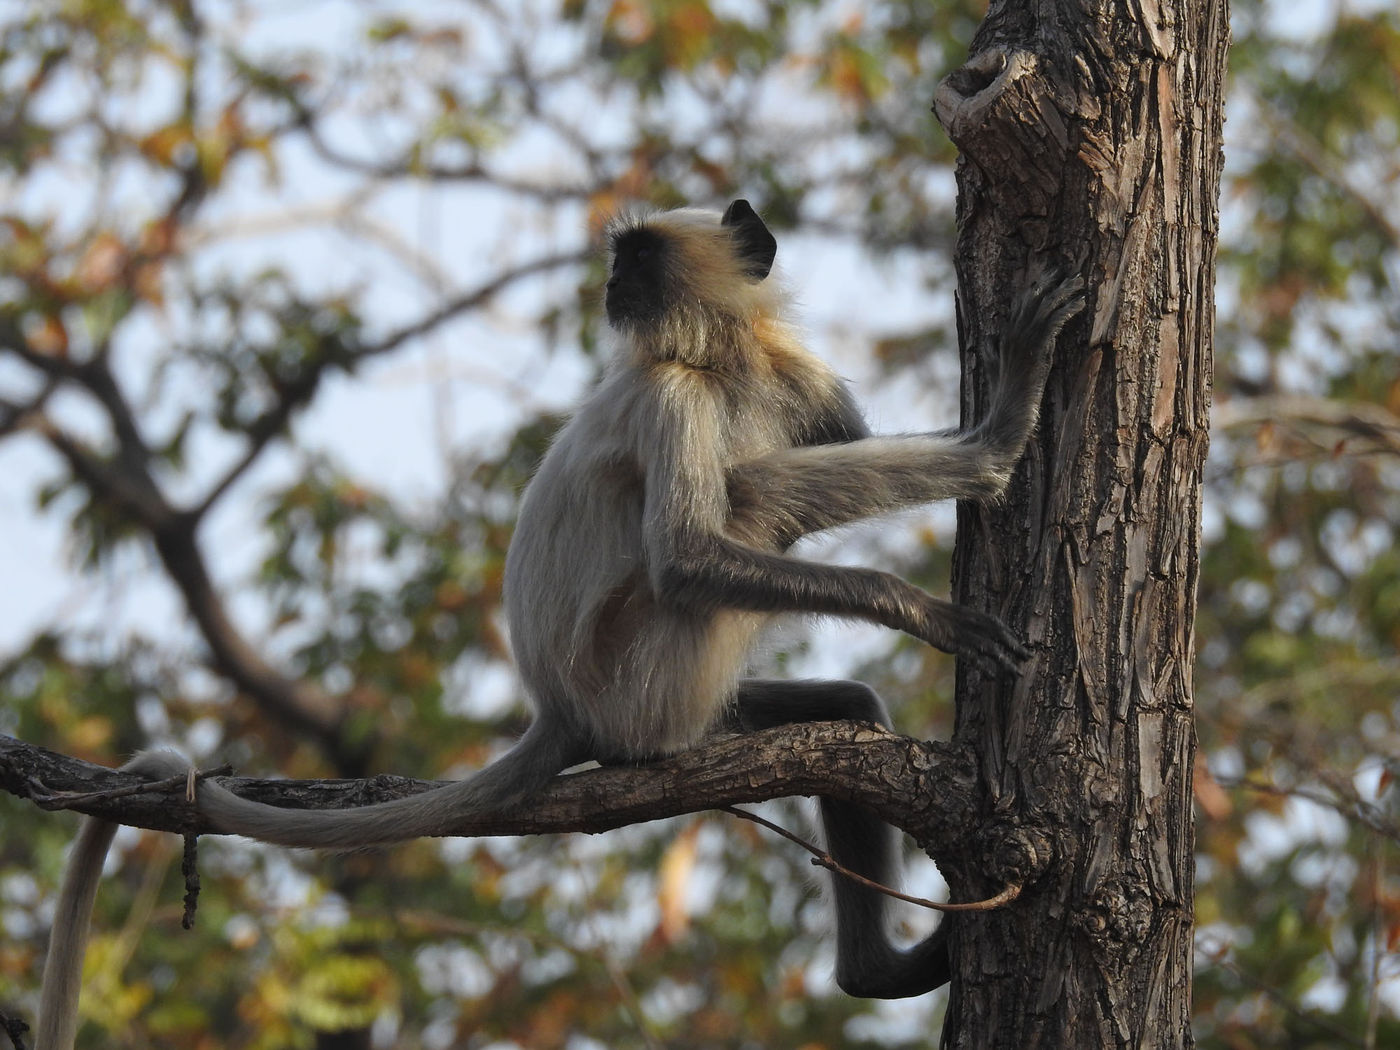
[[722, 216], [682, 209], [615, 220], [608, 248], [605, 302], [609, 323], [620, 332], [679, 326], [675, 337], [715, 316], [749, 315], [771, 298], [760, 288], [777, 241], [748, 200], [735, 200]]

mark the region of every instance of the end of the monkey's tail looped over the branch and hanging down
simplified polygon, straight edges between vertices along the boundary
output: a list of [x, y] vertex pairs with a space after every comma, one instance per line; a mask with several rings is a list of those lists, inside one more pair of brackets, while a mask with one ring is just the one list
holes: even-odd
[[[168, 750], [148, 750], [122, 766], [126, 773], [139, 773], [148, 780], [178, 777], [189, 769], [189, 762]], [[102, 861], [112, 846], [116, 825], [95, 816], [83, 819], [67, 874], [59, 893], [49, 934], [49, 955], [43, 962], [43, 990], [39, 993], [39, 1023], [35, 1028], [35, 1050], [73, 1050], [78, 1033], [78, 990], [83, 986], [83, 955], [87, 951], [88, 924], [97, 883], [102, 878]]]

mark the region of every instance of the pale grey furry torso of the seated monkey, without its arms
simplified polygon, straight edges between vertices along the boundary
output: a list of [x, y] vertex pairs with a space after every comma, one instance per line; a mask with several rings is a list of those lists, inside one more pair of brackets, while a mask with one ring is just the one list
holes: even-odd
[[[655, 757], [704, 736], [769, 619], [658, 594], [664, 552], [648, 543], [645, 503], [659, 482], [645, 465], [658, 454], [732, 462], [773, 451], [783, 445], [773, 406], [741, 393], [727, 433], [678, 433], [678, 420], [708, 414], [699, 402], [714, 395], [680, 370], [650, 371], [615, 365], [560, 433], [505, 560], [511, 648], [538, 714], [587, 725], [601, 759]], [[697, 521], [727, 512], [690, 510]]]

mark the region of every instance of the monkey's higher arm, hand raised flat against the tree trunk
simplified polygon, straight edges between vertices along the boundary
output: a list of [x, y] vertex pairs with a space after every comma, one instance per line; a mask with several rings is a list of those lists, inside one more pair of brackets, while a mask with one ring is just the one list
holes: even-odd
[[969, 430], [804, 445], [725, 472], [732, 533], [759, 546], [938, 500], [995, 500], [1035, 428], [1056, 336], [1084, 307], [1078, 277], [1032, 284], [987, 367], [991, 402]]

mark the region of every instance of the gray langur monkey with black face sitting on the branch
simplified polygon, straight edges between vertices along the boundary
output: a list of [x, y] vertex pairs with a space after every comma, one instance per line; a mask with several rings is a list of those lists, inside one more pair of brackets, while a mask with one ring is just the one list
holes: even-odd
[[[526, 798], [589, 759], [645, 762], [717, 729], [889, 725], [858, 682], [742, 676], [756, 636], [781, 613], [869, 620], [987, 672], [1016, 671], [1026, 650], [997, 619], [889, 573], [787, 550], [902, 507], [998, 498], [1082, 283], [1042, 279], [1019, 297], [986, 361], [990, 402], [976, 426], [871, 437], [846, 385], [790, 326], [769, 277], [777, 242], [748, 202], [722, 216], [619, 218], [608, 246], [615, 353], [526, 489], [505, 561], [529, 729], [463, 781], [354, 809], [283, 809], [203, 781], [199, 808], [214, 827], [284, 846], [381, 846], [448, 834], [461, 816]], [[822, 799], [820, 812], [840, 864], [890, 881], [892, 829], [848, 802]], [[834, 879], [840, 987], [899, 998], [946, 981], [942, 927], [896, 948], [885, 900]]]

